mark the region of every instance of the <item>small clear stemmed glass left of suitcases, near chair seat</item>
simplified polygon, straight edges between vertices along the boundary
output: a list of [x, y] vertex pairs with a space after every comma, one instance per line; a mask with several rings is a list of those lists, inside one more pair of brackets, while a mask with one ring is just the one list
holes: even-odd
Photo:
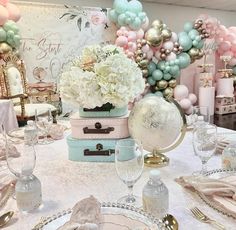
[[36, 126], [43, 134], [43, 138], [39, 138], [38, 143], [39, 144], [51, 144], [53, 142], [53, 139], [49, 139], [49, 131], [53, 124], [53, 116], [51, 109], [48, 109], [48, 111], [44, 114], [38, 115], [37, 110], [35, 110], [35, 121]]

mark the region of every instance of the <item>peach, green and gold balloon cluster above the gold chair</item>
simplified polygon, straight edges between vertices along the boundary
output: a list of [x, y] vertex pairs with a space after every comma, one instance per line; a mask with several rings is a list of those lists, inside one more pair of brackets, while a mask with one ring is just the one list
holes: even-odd
[[20, 46], [21, 37], [16, 22], [20, 19], [18, 7], [8, 0], [0, 0], [0, 53]]

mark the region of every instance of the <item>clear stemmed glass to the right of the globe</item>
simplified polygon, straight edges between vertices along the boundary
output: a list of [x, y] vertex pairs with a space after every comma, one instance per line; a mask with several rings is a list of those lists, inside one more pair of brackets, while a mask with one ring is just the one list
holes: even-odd
[[193, 148], [195, 154], [201, 159], [204, 175], [207, 171], [207, 162], [212, 157], [217, 145], [217, 127], [213, 124], [204, 123], [196, 126], [193, 130]]

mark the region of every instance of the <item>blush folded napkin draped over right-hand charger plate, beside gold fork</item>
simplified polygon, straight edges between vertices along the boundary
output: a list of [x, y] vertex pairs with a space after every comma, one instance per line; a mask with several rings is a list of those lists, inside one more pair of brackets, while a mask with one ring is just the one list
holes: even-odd
[[175, 180], [184, 188], [205, 196], [213, 205], [236, 217], [236, 175], [221, 179], [184, 176]]

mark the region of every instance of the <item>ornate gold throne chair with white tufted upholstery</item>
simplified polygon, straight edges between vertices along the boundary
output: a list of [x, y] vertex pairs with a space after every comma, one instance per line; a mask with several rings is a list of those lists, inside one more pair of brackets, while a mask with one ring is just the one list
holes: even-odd
[[27, 90], [25, 65], [16, 55], [9, 54], [3, 58], [0, 67], [0, 98], [11, 99], [18, 122], [34, 119], [35, 110], [41, 115], [51, 109], [56, 115], [56, 107], [47, 103], [30, 103]]

